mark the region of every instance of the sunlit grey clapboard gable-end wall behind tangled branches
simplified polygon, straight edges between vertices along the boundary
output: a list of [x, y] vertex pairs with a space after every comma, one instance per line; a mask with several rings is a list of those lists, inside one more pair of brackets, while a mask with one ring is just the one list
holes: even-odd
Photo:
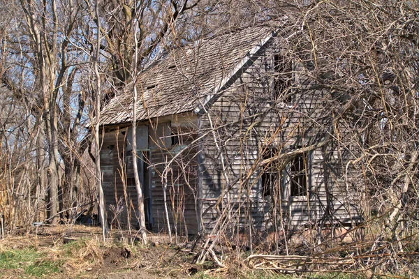
[[[255, 169], [254, 166], [266, 149], [286, 153], [309, 146], [318, 141], [314, 137], [322, 134], [324, 137], [321, 130], [329, 125], [325, 107], [330, 102], [330, 94], [324, 90], [304, 94], [302, 89], [312, 84], [304, 84], [304, 78], [298, 76], [304, 70], [299, 63], [293, 64], [293, 72], [300, 72], [293, 73], [293, 85], [281, 92], [277, 101], [272, 98], [273, 79], [278, 74], [274, 70], [274, 55], [281, 53], [274, 46], [275, 42], [270, 44], [253, 66], [222, 93], [207, 114], [200, 116], [200, 133], [207, 133], [200, 153], [202, 213], [207, 232], [226, 206], [230, 212], [237, 212], [232, 220], [238, 222], [237, 227], [272, 226], [272, 194], [264, 195], [263, 167]], [[292, 95], [292, 101], [284, 97], [287, 94]], [[322, 119], [324, 123], [318, 122]], [[344, 138], [346, 128], [337, 123], [337, 129], [341, 129], [339, 136]], [[350, 159], [346, 146], [332, 137], [329, 144], [305, 156], [307, 195], [291, 195], [288, 167], [278, 174], [286, 225], [358, 222], [358, 196], [348, 188], [351, 169], [349, 172], [345, 169]], [[228, 183], [231, 188], [226, 193]]]

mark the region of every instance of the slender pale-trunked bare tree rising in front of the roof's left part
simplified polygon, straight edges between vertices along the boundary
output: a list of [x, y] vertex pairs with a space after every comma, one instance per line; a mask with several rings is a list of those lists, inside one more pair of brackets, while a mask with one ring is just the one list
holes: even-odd
[[[101, 45], [104, 52], [112, 59], [110, 66], [112, 72], [108, 75], [112, 90], [108, 91], [112, 97], [115, 92], [122, 91], [124, 86], [129, 84], [132, 96], [132, 147], [133, 147], [133, 172], [135, 187], [138, 199], [138, 217], [140, 234], [146, 243], [145, 211], [142, 193], [142, 185], [138, 178], [137, 166], [137, 135], [136, 135], [136, 112], [138, 106], [138, 95], [142, 93], [142, 81], [138, 79], [138, 73], [145, 67], [146, 63], [162, 50], [165, 39], [176, 29], [175, 22], [188, 10], [195, 7], [199, 1], [173, 1], [170, 3], [159, 3], [152, 1], [130, 1], [124, 5], [109, 3], [103, 5], [104, 20], [109, 29], [103, 29], [106, 42]], [[108, 17], [109, 15], [109, 17]]]

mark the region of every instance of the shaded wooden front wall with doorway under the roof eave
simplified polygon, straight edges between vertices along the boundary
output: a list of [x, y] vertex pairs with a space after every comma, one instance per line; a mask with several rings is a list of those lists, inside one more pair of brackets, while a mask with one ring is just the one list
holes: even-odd
[[[179, 234], [196, 234], [198, 166], [197, 151], [191, 146], [196, 137], [196, 116], [179, 115], [159, 121], [140, 122], [138, 125], [148, 129], [147, 144], [140, 143], [141, 148], [138, 150], [138, 172], [144, 192], [148, 228], [153, 232], [167, 232], [163, 203], [166, 183], [166, 204], [171, 229]], [[138, 225], [130, 129], [110, 126], [103, 133], [101, 167], [108, 222], [114, 227], [126, 228], [128, 218], [131, 227]], [[168, 172], [163, 175], [166, 167]]]

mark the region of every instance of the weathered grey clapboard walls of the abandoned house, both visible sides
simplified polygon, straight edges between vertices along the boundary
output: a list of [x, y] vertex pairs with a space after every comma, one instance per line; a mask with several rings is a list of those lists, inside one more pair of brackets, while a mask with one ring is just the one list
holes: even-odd
[[[149, 128], [147, 154], [152, 199], [149, 222], [153, 231], [168, 229], [163, 200], [166, 167], [166, 205], [171, 229], [183, 234], [196, 234], [201, 229], [210, 232], [226, 206], [237, 212], [235, 227], [268, 229], [274, 225], [273, 194], [264, 196], [260, 178], [263, 169], [256, 168], [256, 163], [265, 149], [272, 146], [278, 152], [286, 153], [318, 142], [321, 139], [316, 137], [322, 137], [318, 136], [319, 130], [324, 130], [325, 135], [334, 135], [328, 145], [304, 153], [309, 166], [307, 195], [291, 197], [291, 183], [286, 174], [290, 167], [278, 175], [283, 177], [279, 189], [281, 219], [288, 226], [360, 220], [360, 194], [351, 186], [353, 169], [346, 169], [353, 154], [349, 152], [351, 146], [341, 140], [350, 137], [353, 127], [344, 119], [331, 123], [333, 116], [327, 109], [334, 102], [331, 92], [325, 89], [304, 91], [318, 84], [307, 82], [304, 73], [308, 69], [298, 61], [295, 61], [292, 70], [295, 84], [288, 92], [293, 100], [283, 98], [275, 102], [272, 98], [272, 77], [277, 74], [274, 73], [274, 54], [277, 52], [281, 52], [281, 45], [276, 38], [263, 46], [256, 61], [244, 67], [244, 72], [239, 70], [230, 77], [231, 82], [222, 88], [219, 98], [211, 100], [210, 105], [205, 107], [206, 111], [200, 110], [199, 115], [190, 112], [196, 108], [191, 104], [195, 97], [203, 93], [192, 92], [193, 98], [187, 100], [189, 112], [176, 114], [184, 110], [156, 105], [154, 109], [159, 118], [138, 123]], [[212, 94], [214, 90], [205, 92]], [[177, 104], [183, 102], [175, 98], [175, 93], [170, 98]], [[173, 114], [166, 114], [169, 110]], [[126, 142], [123, 137], [115, 137], [115, 127], [105, 128], [101, 150], [106, 201], [108, 205], [115, 206], [117, 199], [126, 193], [135, 208], [135, 186], [127, 185], [124, 192], [125, 184], [119, 175], [125, 169], [127, 182], [132, 184], [132, 156], [126, 156], [122, 151]], [[200, 140], [196, 142], [198, 138]], [[176, 139], [173, 145], [172, 139]], [[119, 151], [115, 151], [115, 147], [107, 149], [107, 146], [119, 146]], [[181, 151], [182, 156], [177, 156]], [[121, 155], [124, 156], [125, 167], [119, 166]], [[223, 195], [227, 188], [228, 195]], [[128, 216], [128, 213], [130, 211], [125, 209], [122, 216]], [[108, 220], [111, 217], [108, 210]]]

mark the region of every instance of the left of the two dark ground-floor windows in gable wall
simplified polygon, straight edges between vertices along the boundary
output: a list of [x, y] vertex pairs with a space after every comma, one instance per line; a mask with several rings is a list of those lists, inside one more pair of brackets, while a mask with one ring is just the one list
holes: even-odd
[[[265, 153], [263, 153], [262, 160], [274, 158], [275, 155], [277, 155], [277, 149], [267, 149]], [[280, 179], [278, 161], [272, 160], [272, 162], [265, 165], [260, 177], [264, 197], [272, 195], [274, 189], [279, 189]]]

